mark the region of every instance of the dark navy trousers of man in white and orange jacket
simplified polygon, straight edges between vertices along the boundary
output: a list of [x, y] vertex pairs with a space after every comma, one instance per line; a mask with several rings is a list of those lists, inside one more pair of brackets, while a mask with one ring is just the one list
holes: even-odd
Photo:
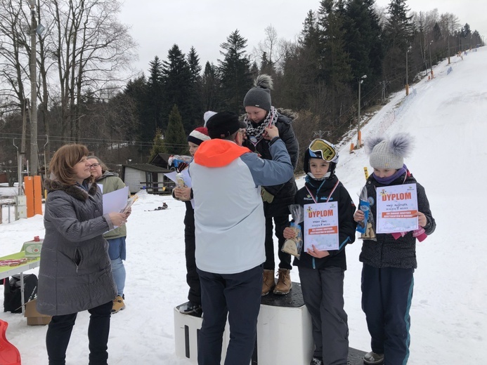
[[257, 337], [262, 270], [262, 265], [237, 274], [213, 274], [197, 270], [203, 308], [198, 365], [220, 364], [227, 313], [230, 343], [225, 365], [249, 365]]

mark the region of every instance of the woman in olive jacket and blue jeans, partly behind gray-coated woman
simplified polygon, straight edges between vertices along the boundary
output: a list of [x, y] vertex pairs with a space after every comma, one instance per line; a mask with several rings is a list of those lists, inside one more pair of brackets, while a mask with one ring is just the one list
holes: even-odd
[[[118, 174], [108, 171], [107, 166], [98, 157], [89, 156], [88, 162], [91, 176], [95, 179], [96, 184], [100, 186], [103, 194], [125, 187], [125, 183], [118, 177]], [[124, 288], [126, 274], [123, 260], [126, 260], [126, 226], [122, 225], [115, 228], [115, 230], [103, 234], [103, 237], [108, 241], [108, 255], [110, 255], [110, 260], [112, 260], [112, 275], [117, 286], [117, 297], [113, 300], [112, 313], [117, 313], [125, 309]]]

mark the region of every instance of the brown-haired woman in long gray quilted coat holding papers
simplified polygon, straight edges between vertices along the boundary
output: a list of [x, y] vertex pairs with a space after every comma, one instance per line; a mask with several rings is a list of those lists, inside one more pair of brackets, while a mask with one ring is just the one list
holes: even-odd
[[64, 145], [49, 163], [37, 310], [53, 316], [46, 333], [49, 365], [65, 365], [77, 312], [91, 314], [89, 365], [106, 365], [110, 311], [115, 298], [103, 233], [126, 223], [127, 214], [103, 215], [84, 145]]

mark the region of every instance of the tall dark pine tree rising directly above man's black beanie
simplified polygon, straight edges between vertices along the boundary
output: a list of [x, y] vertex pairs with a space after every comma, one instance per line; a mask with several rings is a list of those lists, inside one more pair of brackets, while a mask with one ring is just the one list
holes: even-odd
[[242, 101], [252, 87], [249, 59], [245, 55], [247, 39], [240, 36], [238, 29], [232, 32], [220, 45], [223, 60], [219, 60], [221, 88], [226, 109], [236, 114], [243, 112]]

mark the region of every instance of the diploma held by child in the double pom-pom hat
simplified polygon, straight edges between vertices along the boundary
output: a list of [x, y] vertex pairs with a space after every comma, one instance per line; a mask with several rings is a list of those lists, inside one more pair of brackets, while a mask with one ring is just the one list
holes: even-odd
[[416, 184], [377, 187], [377, 233], [417, 230]]

